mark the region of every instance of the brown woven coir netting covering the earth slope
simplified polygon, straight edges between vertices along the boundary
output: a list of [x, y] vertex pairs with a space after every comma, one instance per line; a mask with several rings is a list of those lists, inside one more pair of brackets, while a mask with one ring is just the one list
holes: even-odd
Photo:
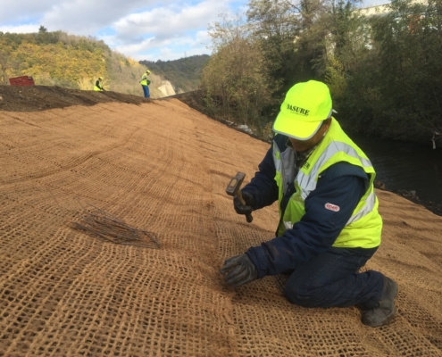
[[[0, 112], [0, 355], [441, 356], [442, 217], [378, 192], [383, 243], [366, 269], [399, 284], [396, 320], [304, 309], [285, 278], [236, 289], [227, 257], [272, 237], [275, 206], [247, 224], [224, 189], [268, 144], [176, 99]], [[114, 245], [66, 225], [81, 203], [158, 234]]]

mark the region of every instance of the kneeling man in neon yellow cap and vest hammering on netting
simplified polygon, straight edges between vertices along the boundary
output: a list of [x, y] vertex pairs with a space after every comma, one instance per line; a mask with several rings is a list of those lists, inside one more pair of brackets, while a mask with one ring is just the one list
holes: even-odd
[[291, 303], [357, 305], [363, 324], [378, 327], [395, 317], [397, 285], [378, 271], [359, 272], [380, 244], [375, 171], [332, 118], [331, 104], [329, 88], [315, 80], [288, 91], [271, 148], [241, 190], [246, 205], [234, 198], [239, 214], [278, 200], [276, 237], [229, 258], [221, 274], [232, 286], [289, 274]]

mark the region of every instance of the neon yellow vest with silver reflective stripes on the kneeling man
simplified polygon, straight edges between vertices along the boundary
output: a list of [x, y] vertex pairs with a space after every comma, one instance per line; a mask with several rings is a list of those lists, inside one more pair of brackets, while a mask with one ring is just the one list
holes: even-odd
[[321, 178], [321, 171], [327, 170], [329, 166], [337, 162], [349, 162], [360, 166], [367, 173], [370, 177], [370, 186], [354, 209], [352, 217], [346, 222], [346, 227], [334, 245], [341, 247], [374, 247], [379, 245], [382, 220], [377, 210], [379, 203], [373, 187], [375, 172], [370, 160], [346, 136], [338, 121], [332, 119], [329, 133], [315, 148], [309, 159], [304, 162], [304, 166], [299, 170], [296, 178], [293, 178], [293, 173], [287, 170], [290, 165], [295, 166], [296, 156], [293, 149], [287, 148], [281, 153], [276, 142], [273, 142], [273, 161], [276, 169], [275, 180], [279, 186], [279, 215], [282, 213], [280, 205], [287, 192], [288, 184], [294, 181], [296, 188], [296, 193], [290, 197], [284, 217], [282, 217], [279, 235], [283, 234], [284, 230], [293, 228], [293, 225], [301, 220], [305, 213], [304, 201], [316, 188], [317, 180]]

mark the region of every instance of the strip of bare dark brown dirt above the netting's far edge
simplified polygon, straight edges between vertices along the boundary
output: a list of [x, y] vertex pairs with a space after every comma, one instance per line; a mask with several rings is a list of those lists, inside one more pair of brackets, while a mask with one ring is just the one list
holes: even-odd
[[0, 86], [0, 97], [0, 111], [8, 112], [39, 112], [72, 105], [89, 106], [110, 102], [138, 105], [150, 103], [150, 99], [138, 95], [49, 86]]

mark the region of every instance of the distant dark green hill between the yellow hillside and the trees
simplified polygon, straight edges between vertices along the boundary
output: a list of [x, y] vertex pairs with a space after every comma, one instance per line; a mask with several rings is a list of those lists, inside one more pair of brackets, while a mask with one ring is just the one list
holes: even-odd
[[207, 54], [200, 54], [174, 61], [140, 61], [140, 63], [169, 80], [175, 92], [182, 93], [199, 88], [201, 71], [209, 58]]

